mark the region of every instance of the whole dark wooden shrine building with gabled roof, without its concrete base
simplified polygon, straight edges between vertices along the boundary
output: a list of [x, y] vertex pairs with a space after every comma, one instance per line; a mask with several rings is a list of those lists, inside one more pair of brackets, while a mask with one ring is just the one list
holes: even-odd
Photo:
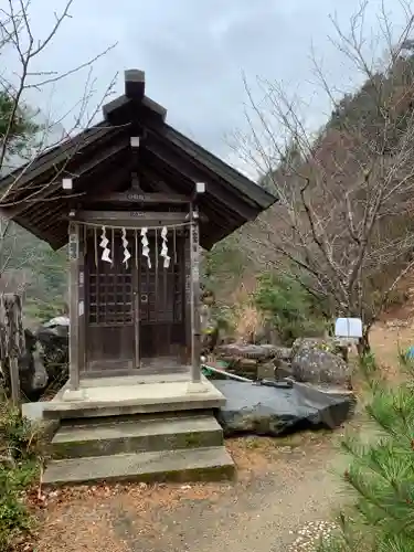
[[1, 211], [54, 250], [68, 244], [72, 391], [137, 373], [197, 383], [199, 246], [275, 198], [169, 126], [140, 71], [103, 116], [6, 177]]

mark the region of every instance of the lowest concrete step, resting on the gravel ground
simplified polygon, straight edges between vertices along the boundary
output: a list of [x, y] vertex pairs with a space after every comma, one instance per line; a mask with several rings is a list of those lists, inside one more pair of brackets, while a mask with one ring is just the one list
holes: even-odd
[[116, 481], [217, 481], [232, 479], [234, 463], [224, 446], [52, 460], [50, 486]]

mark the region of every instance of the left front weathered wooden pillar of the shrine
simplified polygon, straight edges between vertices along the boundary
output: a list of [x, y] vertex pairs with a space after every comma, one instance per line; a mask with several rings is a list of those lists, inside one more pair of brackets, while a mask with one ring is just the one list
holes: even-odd
[[70, 222], [68, 227], [68, 258], [70, 258], [70, 389], [79, 388], [79, 226]]

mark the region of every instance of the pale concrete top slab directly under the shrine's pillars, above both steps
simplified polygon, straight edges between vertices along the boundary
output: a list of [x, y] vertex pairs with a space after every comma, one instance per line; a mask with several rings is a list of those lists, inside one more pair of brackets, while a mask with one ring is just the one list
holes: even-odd
[[225, 397], [205, 378], [195, 388], [188, 376], [160, 381], [159, 376], [87, 379], [81, 382], [78, 397], [64, 386], [45, 403], [44, 418], [83, 418], [220, 408]]

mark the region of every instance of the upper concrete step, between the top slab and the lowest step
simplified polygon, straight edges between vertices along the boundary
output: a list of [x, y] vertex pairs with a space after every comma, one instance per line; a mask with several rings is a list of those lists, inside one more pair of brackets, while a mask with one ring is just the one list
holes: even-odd
[[223, 431], [213, 415], [132, 418], [104, 423], [99, 418], [63, 425], [52, 439], [56, 459], [127, 453], [176, 450], [223, 445]]

